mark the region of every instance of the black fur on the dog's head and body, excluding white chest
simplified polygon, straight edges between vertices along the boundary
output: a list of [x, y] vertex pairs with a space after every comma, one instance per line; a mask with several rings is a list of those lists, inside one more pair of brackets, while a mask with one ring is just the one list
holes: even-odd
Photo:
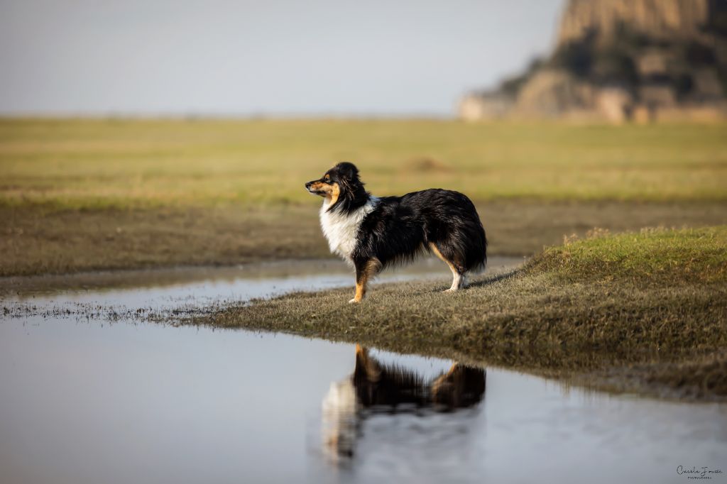
[[[329, 211], [350, 214], [371, 199], [350, 163], [337, 164], [316, 182], [340, 186]], [[357, 272], [374, 258], [382, 267], [409, 261], [430, 251], [430, 243], [460, 274], [481, 270], [487, 262], [487, 238], [474, 204], [462, 193], [440, 188], [378, 198], [356, 239], [351, 259]]]

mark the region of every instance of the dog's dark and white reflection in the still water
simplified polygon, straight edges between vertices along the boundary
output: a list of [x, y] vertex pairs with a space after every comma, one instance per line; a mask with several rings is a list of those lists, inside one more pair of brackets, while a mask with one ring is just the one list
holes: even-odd
[[333, 461], [353, 457], [367, 416], [376, 413], [448, 412], [481, 402], [485, 371], [454, 363], [432, 380], [400, 366], [380, 363], [356, 345], [353, 375], [331, 384], [323, 402], [324, 452]]

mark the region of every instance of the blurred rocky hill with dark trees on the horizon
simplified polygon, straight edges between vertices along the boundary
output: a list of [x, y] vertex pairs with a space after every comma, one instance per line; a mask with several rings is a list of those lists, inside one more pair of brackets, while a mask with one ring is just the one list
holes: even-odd
[[727, 0], [569, 0], [553, 52], [459, 116], [719, 119], [726, 93]]

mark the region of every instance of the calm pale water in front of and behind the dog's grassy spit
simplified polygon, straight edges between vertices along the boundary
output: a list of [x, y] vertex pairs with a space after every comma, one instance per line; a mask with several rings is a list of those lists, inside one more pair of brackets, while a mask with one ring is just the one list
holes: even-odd
[[[174, 307], [340, 285], [309, 277], [32, 300]], [[4, 318], [0, 389], [1, 483], [690, 482], [680, 465], [727, 482], [725, 405], [289, 335]]]

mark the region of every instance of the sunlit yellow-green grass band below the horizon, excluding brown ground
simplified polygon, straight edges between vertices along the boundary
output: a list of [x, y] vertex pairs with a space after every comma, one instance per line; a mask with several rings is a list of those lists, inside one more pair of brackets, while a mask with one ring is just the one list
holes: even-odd
[[0, 204], [317, 203], [302, 183], [353, 161], [377, 194], [477, 201], [726, 201], [727, 124], [0, 120]]

